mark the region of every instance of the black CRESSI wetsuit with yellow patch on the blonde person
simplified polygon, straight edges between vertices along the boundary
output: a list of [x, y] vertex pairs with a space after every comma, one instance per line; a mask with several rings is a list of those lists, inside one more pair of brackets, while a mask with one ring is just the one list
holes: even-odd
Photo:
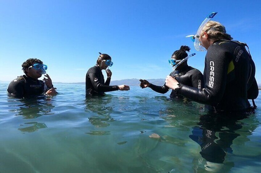
[[242, 111], [247, 99], [258, 96], [255, 64], [239, 42], [218, 40], [208, 47], [204, 69], [205, 88], [180, 84], [177, 93], [221, 111]]

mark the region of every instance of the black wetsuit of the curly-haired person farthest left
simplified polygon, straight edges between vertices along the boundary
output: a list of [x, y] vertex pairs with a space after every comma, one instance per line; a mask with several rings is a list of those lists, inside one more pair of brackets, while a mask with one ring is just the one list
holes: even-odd
[[10, 96], [24, 98], [43, 95], [49, 89], [51, 88], [48, 88], [44, 81], [23, 75], [10, 82], [7, 93]]

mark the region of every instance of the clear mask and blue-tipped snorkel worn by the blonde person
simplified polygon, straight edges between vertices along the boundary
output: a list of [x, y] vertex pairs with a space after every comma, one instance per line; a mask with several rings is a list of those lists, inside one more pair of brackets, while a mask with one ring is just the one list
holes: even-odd
[[205, 20], [201, 23], [200, 27], [198, 28], [198, 31], [197, 31], [195, 36], [194, 35], [186, 36], [186, 37], [190, 37], [191, 40], [194, 42], [194, 47], [197, 51], [206, 51], [205, 47], [203, 47], [202, 43], [199, 41], [200, 34], [201, 34], [202, 29], [205, 26], [205, 24], [208, 21], [210, 21], [216, 14], [217, 14], [217, 12], [213, 12], [213, 13], [208, 14], [208, 16], [205, 18]]

